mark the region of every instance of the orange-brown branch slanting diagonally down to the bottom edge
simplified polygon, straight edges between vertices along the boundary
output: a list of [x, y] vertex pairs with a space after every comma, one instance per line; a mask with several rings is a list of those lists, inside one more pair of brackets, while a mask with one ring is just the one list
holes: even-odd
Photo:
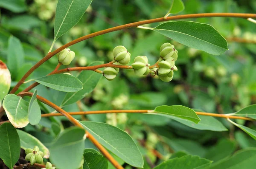
[[[31, 97], [32, 95], [33, 95], [33, 93], [31, 93], [31, 92], [21, 92], [20, 93], [20, 96], [30, 96]], [[84, 129], [84, 127], [75, 118], [73, 118], [65, 110], [61, 109], [61, 107], [58, 107], [56, 104], [52, 103], [51, 101], [49, 101], [41, 96], [37, 95], [36, 98], [38, 100], [40, 100], [41, 102], [43, 102], [44, 104], [47, 104], [48, 106], [52, 107], [53, 109], [55, 109], [56, 111], [58, 111], [59, 113], [64, 115], [65, 117], [67, 117], [67, 119], [70, 122], [72, 122], [74, 125]], [[103, 155], [105, 155], [105, 157], [113, 164], [113, 166], [116, 167], [116, 169], [123, 169], [123, 167], [109, 154], [109, 152], [101, 144], [99, 144], [99, 142], [89, 132], [86, 132], [86, 134], [87, 134], [87, 138], [89, 138], [90, 141], [93, 142], [93, 144], [102, 152]]]

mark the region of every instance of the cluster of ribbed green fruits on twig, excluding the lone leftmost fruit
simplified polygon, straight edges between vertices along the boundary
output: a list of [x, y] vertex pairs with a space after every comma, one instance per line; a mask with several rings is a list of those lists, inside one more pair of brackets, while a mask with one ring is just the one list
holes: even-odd
[[[113, 56], [114, 61], [117, 62], [114, 64], [126, 65], [131, 59], [131, 54], [124, 46], [116, 46], [113, 49]], [[157, 64], [150, 67], [147, 56], [137, 56], [131, 65], [134, 73], [138, 76], [150, 74], [150, 76], [159, 76], [164, 82], [170, 82], [173, 77], [173, 71], [177, 70], [175, 66], [177, 57], [178, 51], [174, 48], [174, 45], [164, 43], [160, 48], [160, 59]], [[119, 68], [105, 68], [102, 74], [106, 79], [113, 80], [118, 72]]]

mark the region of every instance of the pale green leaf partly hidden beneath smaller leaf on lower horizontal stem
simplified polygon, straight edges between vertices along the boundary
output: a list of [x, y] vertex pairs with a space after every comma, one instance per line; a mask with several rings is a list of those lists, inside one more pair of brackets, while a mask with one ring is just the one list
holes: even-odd
[[198, 117], [201, 119], [198, 122], [198, 124], [195, 124], [192, 121], [189, 121], [187, 119], [177, 118], [175, 116], [168, 116], [168, 117], [186, 126], [189, 126], [191, 128], [198, 129], [198, 130], [211, 130], [216, 132], [227, 131], [227, 128], [220, 121], [218, 121], [216, 118], [211, 116], [198, 115]]

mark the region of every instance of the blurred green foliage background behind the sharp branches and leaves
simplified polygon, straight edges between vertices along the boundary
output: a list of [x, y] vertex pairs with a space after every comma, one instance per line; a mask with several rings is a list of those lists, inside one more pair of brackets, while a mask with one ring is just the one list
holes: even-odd
[[[16, 2], [16, 1], [12, 1]], [[26, 62], [17, 75], [12, 78], [12, 87], [36, 62], [46, 56], [54, 37], [53, 24], [57, 0], [17, 0], [18, 3], [0, 0], [0, 59], [6, 62], [8, 39], [11, 35], [20, 39]], [[54, 49], [78, 37], [101, 31], [125, 23], [163, 17], [168, 8], [168, 0], [93, 0], [79, 23], [55, 43]], [[255, 13], [255, 0], [183, 0], [185, 10], [180, 14], [236, 12]], [[213, 56], [203, 51], [188, 48], [154, 31], [130, 28], [104, 34], [70, 46], [76, 53], [74, 66], [87, 66], [101, 60], [113, 59], [112, 50], [124, 45], [131, 53], [131, 63], [136, 56], [147, 56], [153, 65], [160, 54], [160, 46], [165, 42], [175, 45], [178, 71], [171, 82], [162, 82], [150, 76], [137, 77], [133, 70], [120, 70], [118, 76], [109, 82], [102, 78], [96, 89], [87, 95], [80, 104], [64, 107], [67, 111], [148, 109], [160, 105], [183, 105], [209, 113], [233, 113], [256, 104], [256, 26], [241, 18], [198, 18], [188, 19], [208, 23], [216, 28], [228, 41], [229, 51]], [[155, 27], [158, 23], [145, 25]], [[250, 43], [235, 42], [241, 38]], [[254, 41], [254, 43], [252, 42]], [[131, 64], [130, 63], [130, 64]], [[29, 79], [45, 76], [58, 64], [57, 56], [49, 59], [38, 68]], [[64, 68], [64, 66], [61, 66]], [[74, 76], [78, 72], [72, 72]], [[31, 83], [24, 84], [20, 90]], [[55, 104], [60, 104], [64, 94], [39, 85], [38, 95]], [[117, 106], [118, 105], [118, 106]], [[45, 113], [52, 112], [50, 107], [41, 105]], [[4, 117], [6, 118], [6, 117]], [[186, 150], [186, 153], [200, 155], [218, 161], [211, 147], [223, 150], [228, 147], [230, 154], [235, 149], [256, 146], [256, 142], [240, 130], [229, 127], [228, 132], [212, 132], [189, 128], [177, 121], [161, 116], [144, 114], [102, 114], [77, 116], [92, 121], [107, 122], [128, 131], [138, 141], [143, 154], [153, 163], [159, 163], [145, 146], [157, 149], [163, 156]], [[57, 121], [64, 118], [55, 118]], [[236, 121], [252, 129], [254, 122]], [[49, 143], [51, 119], [42, 118], [39, 125], [25, 127], [27, 132]], [[69, 126], [67, 122], [62, 123]], [[43, 131], [43, 136], [40, 131]], [[40, 133], [40, 134], [39, 134]], [[163, 137], [164, 136], [164, 137]], [[234, 140], [234, 138], [236, 138]], [[92, 146], [87, 144], [88, 147]], [[208, 151], [209, 150], [209, 151]], [[217, 150], [215, 150], [217, 151]], [[213, 155], [212, 155], [213, 154]]]

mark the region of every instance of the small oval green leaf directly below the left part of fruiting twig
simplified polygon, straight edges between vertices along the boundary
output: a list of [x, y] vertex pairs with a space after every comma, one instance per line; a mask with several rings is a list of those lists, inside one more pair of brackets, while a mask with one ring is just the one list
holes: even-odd
[[44, 86], [63, 92], [77, 92], [83, 88], [82, 82], [68, 74], [53, 74], [35, 79]]

